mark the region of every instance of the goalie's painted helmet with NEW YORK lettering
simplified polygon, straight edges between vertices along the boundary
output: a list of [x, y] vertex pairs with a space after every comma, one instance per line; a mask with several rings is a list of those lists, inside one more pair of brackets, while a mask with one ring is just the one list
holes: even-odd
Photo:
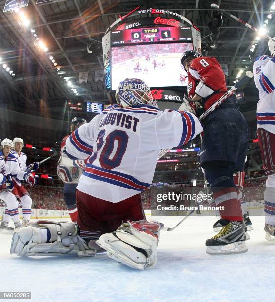
[[150, 88], [138, 78], [126, 78], [120, 82], [115, 98], [117, 103], [123, 107], [139, 104], [156, 106], [157, 103], [156, 100], [153, 100]]

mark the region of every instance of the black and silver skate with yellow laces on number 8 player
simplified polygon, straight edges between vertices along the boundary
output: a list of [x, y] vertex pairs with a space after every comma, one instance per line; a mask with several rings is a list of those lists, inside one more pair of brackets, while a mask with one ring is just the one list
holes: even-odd
[[211, 239], [206, 240], [206, 253], [222, 255], [247, 252], [244, 223], [224, 219], [221, 219], [220, 223], [223, 225], [221, 231]]

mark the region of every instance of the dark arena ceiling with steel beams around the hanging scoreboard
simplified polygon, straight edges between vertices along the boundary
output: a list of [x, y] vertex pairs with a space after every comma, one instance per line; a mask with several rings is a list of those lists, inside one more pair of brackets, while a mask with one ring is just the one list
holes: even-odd
[[[137, 6], [169, 9], [185, 16], [201, 30], [202, 43], [209, 37], [213, 2], [257, 28], [270, 15], [266, 28], [270, 36], [275, 36], [275, 11], [271, 10], [270, 0], [56, 0], [42, 4], [29, 0], [28, 6], [21, 9], [30, 22], [27, 26], [18, 23], [18, 13], [3, 12], [5, 2], [0, 1], [0, 106], [28, 112], [45, 103], [52, 112], [59, 112], [65, 99], [108, 103], [104, 83], [95, 81], [95, 71], [103, 71], [102, 56], [89, 54], [87, 43], [101, 46], [110, 24]], [[22, 20], [21, 24], [25, 22]], [[39, 47], [34, 45], [35, 35], [37, 43], [43, 41]], [[251, 69], [253, 57], [267, 52], [267, 40], [256, 41], [256, 36], [243, 24], [224, 17], [217, 47], [203, 52], [228, 65], [228, 85], [233, 84], [240, 70]], [[15, 75], [2, 68], [3, 64]], [[88, 82], [79, 84], [79, 72], [83, 71], [89, 71]], [[64, 79], [76, 87], [77, 94]]]

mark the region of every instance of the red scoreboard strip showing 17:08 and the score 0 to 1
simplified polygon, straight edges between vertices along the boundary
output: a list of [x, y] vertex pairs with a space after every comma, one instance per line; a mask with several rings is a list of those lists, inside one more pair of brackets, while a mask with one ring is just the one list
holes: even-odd
[[190, 27], [148, 27], [111, 32], [111, 47], [121, 44], [192, 42]]

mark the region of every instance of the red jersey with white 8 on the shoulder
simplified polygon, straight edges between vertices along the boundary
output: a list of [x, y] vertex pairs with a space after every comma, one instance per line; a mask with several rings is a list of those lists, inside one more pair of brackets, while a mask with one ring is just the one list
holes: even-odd
[[188, 70], [188, 98], [195, 93], [202, 97], [207, 110], [226, 91], [225, 75], [215, 58], [199, 57], [192, 60]]

